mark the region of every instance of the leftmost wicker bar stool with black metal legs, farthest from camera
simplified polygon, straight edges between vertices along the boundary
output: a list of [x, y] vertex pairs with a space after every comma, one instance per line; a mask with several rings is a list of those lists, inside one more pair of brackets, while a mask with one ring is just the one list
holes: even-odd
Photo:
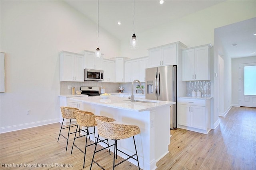
[[[78, 110], [78, 108], [76, 108], [76, 107], [64, 107], [64, 106], [62, 106], [62, 107], [60, 107], [60, 110], [61, 110], [61, 114], [62, 114], [63, 120], [62, 120], [62, 125], [61, 125], [61, 127], [60, 127], [60, 134], [59, 134], [59, 137], [58, 137], [58, 141], [57, 141], [57, 142], [59, 142], [60, 135], [62, 135], [62, 134], [61, 134], [61, 130], [68, 128], [68, 137], [65, 137], [64, 135], [62, 135], [62, 136], [67, 140], [67, 146], [66, 146], [66, 150], [67, 150], [67, 149], [68, 149], [68, 139], [69, 139], [69, 135], [72, 134], [72, 133], [76, 133], [76, 132], [70, 133], [70, 127], [76, 126], [76, 125], [71, 126], [71, 120], [72, 120], [72, 119], [76, 119], [76, 115], [75, 115], [74, 111]], [[68, 127], [63, 127], [63, 128], [62, 128], [64, 119], [70, 119], [70, 122], [69, 122], [69, 126], [68, 126]]]

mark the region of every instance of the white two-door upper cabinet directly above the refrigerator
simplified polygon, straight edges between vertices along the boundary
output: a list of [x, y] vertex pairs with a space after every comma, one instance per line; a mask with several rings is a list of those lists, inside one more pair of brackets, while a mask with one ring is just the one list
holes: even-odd
[[177, 65], [178, 49], [186, 47], [186, 45], [176, 42], [160, 47], [148, 49], [149, 51], [149, 67]]

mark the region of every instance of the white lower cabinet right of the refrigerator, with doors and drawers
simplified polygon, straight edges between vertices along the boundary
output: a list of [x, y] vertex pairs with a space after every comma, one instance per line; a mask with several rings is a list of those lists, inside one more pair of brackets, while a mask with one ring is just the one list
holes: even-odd
[[207, 134], [210, 131], [209, 99], [178, 99], [178, 127]]

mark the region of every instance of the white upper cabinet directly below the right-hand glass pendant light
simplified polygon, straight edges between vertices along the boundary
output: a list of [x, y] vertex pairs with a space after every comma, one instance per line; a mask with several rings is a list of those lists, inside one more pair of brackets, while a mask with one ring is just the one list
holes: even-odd
[[124, 67], [125, 82], [133, 82], [138, 79], [138, 59], [126, 61]]

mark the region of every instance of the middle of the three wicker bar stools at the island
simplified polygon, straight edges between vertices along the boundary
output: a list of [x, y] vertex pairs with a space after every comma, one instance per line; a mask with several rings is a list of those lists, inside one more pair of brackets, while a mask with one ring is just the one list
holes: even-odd
[[[76, 132], [78, 132], [78, 126], [79, 126], [79, 132], [80, 131], [84, 131], [86, 134], [85, 135], [81, 135], [79, 137], [76, 137], [76, 134], [75, 134], [75, 137], [74, 137], [74, 142], [73, 142], [73, 146], [72, 146], [72, 149], [71, 149], [71, 153], [72, 154], [72, 151], [73, 151], [73, 147], [75, 146], [77, 149], [79, 149], [83, 154], [84, 154], [84, 163], [85, 163], [85, 156], [86, 156], [86, 147], [88, 146], [91, 146], [91, 145], [96, 145], [96, 139], [97, 141], [100, 140], [98, 138], [96, 138], [95, 136], [95, 126], [97, 126], [96, 124], [96, 121], [95, 121], [95, 118], [96, 117], [104, 117], [104, 118], [107, 118], [106, 116], [99, 116], [99, 115], [94, 115], [94, 113], [92, 112], [89, 112], [89, 111], [82, 111], [82, 110], [79, 110], [79, 111], [75, 111], [75, 115], [76, 115], [76, 122], [77, 122], [77, 127], [76, 127]], [[80, 127], [86, 127], [87, 129], [80, 129]], [[93, 132], [89, 132], [89, 127], [94, 127], [94, 131]], [[90, 144], [90, 145], [87, 145], [87, 137], [89, 135], [89, 140], [90, 140], [90, 135], [91, 134], [94, 134], [94, 143]], [[78, 146], [75, 145], [75, 140], [77, 138], [80, 138], [80, 137], [84, 137], [86, 136], [86, 141], [85, 141], [85, 149], [84, 151], [82, 149], [80, 149]], [[106, 141], [106, 142], [105, 142]], [[91, 141], [90, 141], [91, 142]], [[104, 140], [100, 140], [99, 142], [103, 142], [105, 143], [106, 145], [108, 145], [108, 139], [104, 139]], [[109, 150], [109, 154], [110, 154], [110, 149], [109, 149], [109, 145], [108, 147]], [[106, 148], [103, 148], [103, 149], [106, 149]], [[103, 150], [101, 149], [101, 150]], [[84, 167], [84, 165], [83, 165]]]

